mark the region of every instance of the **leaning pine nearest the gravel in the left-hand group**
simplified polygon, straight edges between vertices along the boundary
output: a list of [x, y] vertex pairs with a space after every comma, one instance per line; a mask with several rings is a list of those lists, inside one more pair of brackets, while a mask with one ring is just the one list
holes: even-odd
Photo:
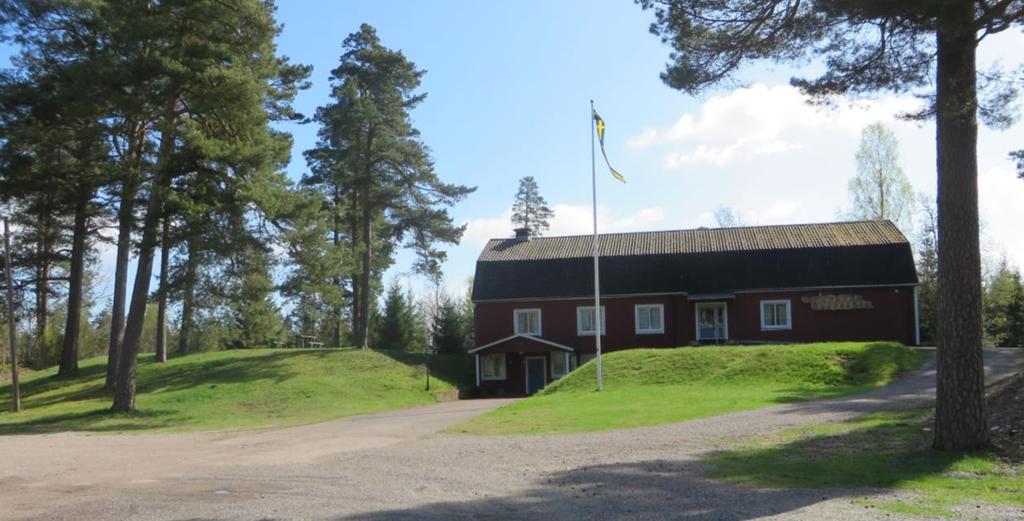
[[175, 179], [222, 176], [239, 181], [276, 169], [290, 140], [268, 125], [296, 116], [289, 101], [308, 75], [308, 69], [290, 66], [276, 55], [273, 38], [280, 27], [269, 2], [199, 1], [140, 8], [156, 10], [147, 18], [153, 27], [136, 34], [160, 47], [161, 74], [168, 82], [163, 116], [155, 125], [160, 145], [118, 363], [115, 411], [135, 407], [135, 367], [157, 228]]

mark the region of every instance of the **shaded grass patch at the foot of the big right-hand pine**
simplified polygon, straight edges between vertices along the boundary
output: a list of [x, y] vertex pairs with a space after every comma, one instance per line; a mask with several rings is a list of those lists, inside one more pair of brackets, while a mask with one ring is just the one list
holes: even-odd
[[983, 504], [1024, 509], [1024, 467], [991, 453], [932, 450], [928, 417], [928, 410], [874, 414], [752, 439], [713, 455], [710, 476], [756, 486], [915, 492], [906, 501], [860, 500], [903, 514], [942, 517]]

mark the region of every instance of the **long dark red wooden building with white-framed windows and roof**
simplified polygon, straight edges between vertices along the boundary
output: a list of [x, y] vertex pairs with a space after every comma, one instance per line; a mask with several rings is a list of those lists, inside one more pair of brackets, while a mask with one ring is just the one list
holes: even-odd
[[[532, 394], [594, 356], [591, 235], [487, 243], [473, 286], [476, 384]], [[601, 346], [918, 343], [916, 270], [889, 221], [600, 236]]]

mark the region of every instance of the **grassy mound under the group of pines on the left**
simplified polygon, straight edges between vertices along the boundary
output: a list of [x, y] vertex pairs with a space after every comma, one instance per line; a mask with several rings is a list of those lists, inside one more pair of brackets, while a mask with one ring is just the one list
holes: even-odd
[[[243, 349], [140, 357], [137, 413], [112, 415], [103, 391], [105, 357], [81, 362], [81, 375], [56, 368], [22, 379], [23, 413], [0, 413], [0, 435], [58, 431], [164, 432], [288, 426], [430, 403], [423, 356], [356, 349]], [[431, 389], [471, 380], [463, 358], [431, 357]], [[10, 384], [0, 386], [0, 403]]]

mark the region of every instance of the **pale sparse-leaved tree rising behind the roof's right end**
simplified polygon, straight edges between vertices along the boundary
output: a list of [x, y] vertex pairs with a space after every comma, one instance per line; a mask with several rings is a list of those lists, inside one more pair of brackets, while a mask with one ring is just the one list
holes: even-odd
[[864, 127], [855, 156], [857, 174], [850, 179], [854, 219], [888, 219], [910, 228], [913, 187], [899, 164], [899, 142], [882, 123]]

